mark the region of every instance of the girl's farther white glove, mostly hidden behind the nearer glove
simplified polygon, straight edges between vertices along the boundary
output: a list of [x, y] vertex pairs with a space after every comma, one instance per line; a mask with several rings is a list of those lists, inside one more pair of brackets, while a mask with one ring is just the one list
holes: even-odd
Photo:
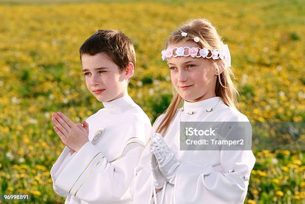
[[152, 152], [152, 138], [151, 138], [150, 146], [151, 146], [151, 169], [152, 169], [152, 175], [153, 175], [154, 188], [161, 189], [161, 188], [163, 188], [165, 179], [159, 170], [158, 163]]

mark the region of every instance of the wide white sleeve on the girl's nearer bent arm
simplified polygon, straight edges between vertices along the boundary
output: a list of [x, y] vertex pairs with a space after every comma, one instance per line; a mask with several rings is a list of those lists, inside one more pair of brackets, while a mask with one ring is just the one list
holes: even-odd
[[[236, 126], [236, 132], [244, 134], [246, 138], [251, 138], [252, 131], [238, 124]], [[218, 151], [219, 165], [198, 165], [181, 161], [175, 180], [174, 203], [186, 204], [202, 201], [217, 204], [244, 203], [255, 157], [251, 150], [223, 149]], [[210, 151], [211, 157], [212, 152], [215, 155], [217, 150]], [[192, 190], [189, 191], [189, 189]]]

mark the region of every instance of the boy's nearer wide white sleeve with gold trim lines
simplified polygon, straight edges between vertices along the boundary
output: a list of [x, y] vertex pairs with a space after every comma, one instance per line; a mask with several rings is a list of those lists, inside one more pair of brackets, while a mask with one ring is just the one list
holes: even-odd
[[54, 182], [56, 188], [89, 203], [111, 203], [130, 198], [125, 198], [125, 194], [145, 145], [143, 138], [150, 131], [146, 130], [143, 122], [138, 125], [135, 122], [133, 128], [124, 133], [130, 139], [121, 150], [123, 153], [112, 161], [107, 160], [97, 146], [87, 142], [57, 177]]

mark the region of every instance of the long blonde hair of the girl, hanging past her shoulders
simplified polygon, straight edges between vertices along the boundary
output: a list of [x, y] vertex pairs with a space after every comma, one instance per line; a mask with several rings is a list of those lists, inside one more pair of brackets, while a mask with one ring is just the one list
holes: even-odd
[[[187, 36], [182, 37], [181, 32], [186, 32]], [[176, 31], [169, 35], [164, 47], [166, 49], [170, 44], [193, 41], [196, 36], [200, 39], [197, 44], [201, 48], [222, 50], [222, 37], [218, 35], [212, 23], [203, 18], [191, 19], [185, 24], [182, 24]], [[213, 62], [212, 66], [219, 72], [223, 70], [217, 77], [215, 87], [216, 96], [219, 96], [227, 106], [237, 109], [235, 104], [237, 104], [238, 91], [231, 80], [231, 76], [234, 77], [231, 68], [226, 67], [223, 69], [224, 62], [221, 60], [209, 60]], [[168, 126], [182, 102], [182, 97], [174, 91], [173, 98], [164, 112], [164, 117], [156, 129], [156, 133], [162, 133], [163, 136], [166, 134]]]

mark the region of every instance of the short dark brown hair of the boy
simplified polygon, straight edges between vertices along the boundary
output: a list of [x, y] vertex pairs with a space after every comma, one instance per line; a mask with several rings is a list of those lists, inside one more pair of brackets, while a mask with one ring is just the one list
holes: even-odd
[[94, 56], [99, 53], [106, 53], [120, 71], [125, 70], [130, 62], [136, 67], [136, 52], [132, 41], [120, 31], [98, 30], [79, 49], [80, 60], [83, 55]]

